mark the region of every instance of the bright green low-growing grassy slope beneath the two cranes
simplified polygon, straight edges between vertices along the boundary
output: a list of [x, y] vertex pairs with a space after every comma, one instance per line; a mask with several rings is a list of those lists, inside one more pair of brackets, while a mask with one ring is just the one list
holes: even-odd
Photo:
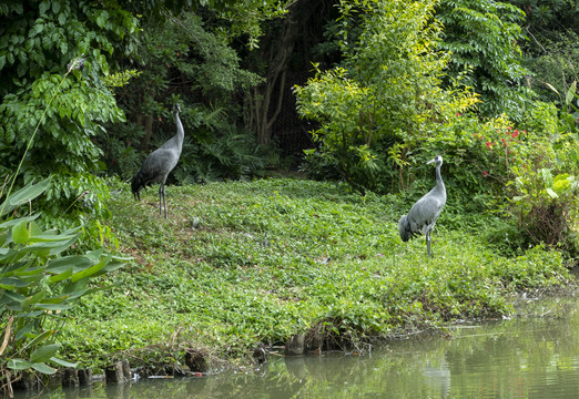
[[75, 310], [62, 337], [70, 358], [99, 365], [129, 349], [154, 361], [184, 347], [236, 358], [313, 327], [328, 338], [387, 335], [509, 313], [514, 289], [569, 277], [558, 254], [537, 248], [507, 259], [482, 238], [445, 229], [445, 215], [428, 259], [424, 238], [398, 238], [409, 204], [341, 184], [266, 180], [166, 192], [169, 221], [159, 216], [156, 188], [136, 204], [123, 186], [111, 202], [121, 249], [134, 262], [108, 277], [116, 287]]

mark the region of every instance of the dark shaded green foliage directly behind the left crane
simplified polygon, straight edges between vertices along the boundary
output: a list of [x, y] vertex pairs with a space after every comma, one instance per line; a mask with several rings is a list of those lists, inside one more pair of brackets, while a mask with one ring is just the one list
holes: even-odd
[[[263, 168], [252, 135], [227, 110], [235, 94], [260, 76], [240, 68], [240, 58], [193, 14], [170, 17], [144, 27], [136, 52], [123, 60], [139, 75], [115, 90], [130, 121], [111, 125], [100, 137], [108, 173], [130, 178], [145, 154], [175, 134], [170, 114], [180, 102], [185, 125], [179, 183], [251, 176]], [[186, 90], [185, 90], [186, 89]]]

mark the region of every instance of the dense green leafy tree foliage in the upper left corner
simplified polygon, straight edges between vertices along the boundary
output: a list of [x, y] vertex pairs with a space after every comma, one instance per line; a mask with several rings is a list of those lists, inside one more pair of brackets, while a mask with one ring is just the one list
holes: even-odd
[[0, 175], [18, 185], [52, 175], [38, 203], [44, 223], [105, 217], [94, 137], [124, 116], [103, 76], [111, 54], [136, 33], [136, 18], [111, 2], [8, 1], [0, 27]]

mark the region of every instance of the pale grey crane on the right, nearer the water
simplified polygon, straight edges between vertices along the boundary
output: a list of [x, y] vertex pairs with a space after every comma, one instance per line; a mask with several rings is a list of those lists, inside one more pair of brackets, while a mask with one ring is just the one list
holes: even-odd
[[436, 163], [436, 186], [430, 190], [425, 196], [414, 204], [408, 212], [408, 215], [404, 215], [398, 221], [398, 231], [400, 232], [400, 238], [403, 242], [407, 242], [414, 236], [426, 235], [426, 249], [428, 256], [430, 254], [430, 233], [434, 229], [434, 225], [443, 207], [446, 204], [446, 188], [440, 175], [440, 166], [443, 166], [443, 157], [436, 155], [433, 160], [428, 161], [428, 164]]

